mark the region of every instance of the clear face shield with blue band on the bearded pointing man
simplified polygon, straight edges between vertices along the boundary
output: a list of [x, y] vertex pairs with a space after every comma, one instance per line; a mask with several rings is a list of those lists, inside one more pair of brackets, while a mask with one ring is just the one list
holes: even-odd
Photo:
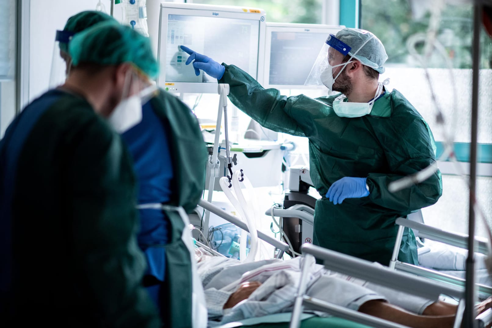
[[[326, 87], [333, 89], [333, 84], [339, 78], [345, 66], [350, 62], [359, 60], [357, 53], [361, 50], [371, 38], [368, 38], [355, 52], [351, 52], [352, 48], [330, 34], [321, 48], [321, 51], [311, 68], [311, 72], [306, 79], [304, 85], [311, 87]], [[345, 56], [350, 52], [350, 59], [343, 61]]]

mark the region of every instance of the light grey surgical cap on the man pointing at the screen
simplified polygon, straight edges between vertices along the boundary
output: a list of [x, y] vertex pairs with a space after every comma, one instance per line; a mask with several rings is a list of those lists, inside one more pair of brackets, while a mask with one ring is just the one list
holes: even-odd
[[350, 56], [352, 56], [364, 42], [370, 39], [364, 47], [357, 52], [354, 58], [379, 73], [384, 73], [383, 64], [388, 59], [388, 55], [386, 55], [383, 44], [374, 34], [367, 30], [346, 28], [340, 30], [336, 37], [352, 48], [348, 53]]

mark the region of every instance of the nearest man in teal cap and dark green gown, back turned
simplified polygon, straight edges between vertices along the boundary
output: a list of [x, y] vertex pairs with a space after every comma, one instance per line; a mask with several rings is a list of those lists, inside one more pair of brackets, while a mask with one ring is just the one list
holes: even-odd
[[0, 142], [1, 321], [160, 327], [141, 285], [131, 159], [101, 117], [127, 108], [158, 65], [149, 40], [115, 22], [74, 35], [69, 54], [65, 83]]

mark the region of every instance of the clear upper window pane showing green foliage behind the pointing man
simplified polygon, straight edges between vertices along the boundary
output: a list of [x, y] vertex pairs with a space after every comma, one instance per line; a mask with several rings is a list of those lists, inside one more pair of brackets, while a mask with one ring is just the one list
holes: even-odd
[[[406, 49], [415, 33], [425, 33], [430, 25], [431, 9], [437, 1], [362, 0], [361, 26], [381, 39], [388, 54], [388, 64], [404, 63], [418, 67]], [[473, 10], [469, 3], [447, 4], [440, 12], [437, 40], [444, 46], [455, 68], [471, 68]], [[491, 67], [492, 45], [486, 33], [481, 35], [482, 68]], [[421, 50], [421, 49], [420, 49]], [[426, 61], [428, 67], [446, 67], [434, 52]]]

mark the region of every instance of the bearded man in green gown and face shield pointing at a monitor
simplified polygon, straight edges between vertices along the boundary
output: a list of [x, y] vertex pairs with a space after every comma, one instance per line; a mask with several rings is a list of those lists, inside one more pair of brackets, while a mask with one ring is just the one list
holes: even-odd
[[[190, 55], [186, 64], [194, 60], [195, 74], [202, 69], [229, 84], [229, 99], [251, 118], [274, 131], [308, 138], [310, 175], [322, 196], [315, 207], [313, 243], [388, 265], [395, 220], [434, 204], [442, 182], [437, 171], [403, 190], [388, 190], [391, 182], [435, 164], [435, 144], [408, 100], [378, 82], [388, 58], [381, 41], [358, 29], [328, 36], [307, 82], [341, 93], [316, 99], [282, 96], [239, 67], [182, 49]], [[418, 263], [409, 229], [399, 259]]]

